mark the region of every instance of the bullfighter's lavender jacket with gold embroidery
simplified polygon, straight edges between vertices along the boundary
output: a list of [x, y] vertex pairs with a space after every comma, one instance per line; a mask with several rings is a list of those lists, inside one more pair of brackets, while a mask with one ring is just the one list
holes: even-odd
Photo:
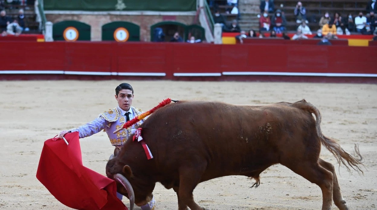
[[[131, 107], [131, 109], [133, 113], [135, 113], [135, 116], [143, 113], [135, 107]], [[131, 135], [131, 129], [135, 128], [138, 125], [141, 125], [144, 122], [144, 120], [141, 120], [137, 122], [135, 125], [132, 125], [127, 129], [123, 129], [116, 134], [113, 134], [113, 131], [115, 131], [118, 128], [121, 128], [125, 122], [126, 119], [124, 118], [124, 116], [121, 115], [121, 111], [118, 107], [115, 107], [114, 109], [109, 109], [109, 111], [101, 113], [93, 121], [88, 122], [85, 125], [81, 125], [78, 128], [71, 129], [70, 131], [78, 131], [80, 138], [84, 138], [98, 133], [101, 130], [104, 130], [106, 131], [107, 136], [110, 139], [110, 143], [113, 146], [116, 146], [122, 145], [123, 142], [126, 142], [128, 137]]]

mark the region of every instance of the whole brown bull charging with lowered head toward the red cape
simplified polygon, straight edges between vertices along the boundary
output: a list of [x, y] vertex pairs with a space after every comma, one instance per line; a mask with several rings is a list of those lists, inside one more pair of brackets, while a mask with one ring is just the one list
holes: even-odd
[[244, 175], [258, 186], [261, 172], [280, 163], [321, 188], [322, 210], [331, 209], [333, 199], [345, 210], [334, 166], [319, 158], [321, 144], [348, 170], [362, 172], [362, 156], [356, 146], [358, 159], [323, 136], [320, 122], [318, 109], [305, 100], [263, 106], [181, 101], [157, 110], [140, 126], [153, 159], [128, 139], [115, 149], [106, 174], [118, 181], [118, 192], [130, 198], [132, 207], [133, 199], [146, 204], [160, 182], [174, 189], [179, 210], [198, 210], [192, 194], [198, 183]]

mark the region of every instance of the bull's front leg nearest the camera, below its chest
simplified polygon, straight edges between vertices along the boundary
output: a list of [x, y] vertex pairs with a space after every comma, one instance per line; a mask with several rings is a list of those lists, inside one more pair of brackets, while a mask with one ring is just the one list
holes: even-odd
[[[178, 204], [181, 206], [189, 206], [191, 210], [202, 210], [198, 204], [195, 203], [192, 192], [196, 185], [198, 185], [201, 176], [205, 170], [205, 165], [201, 166], [182, 166], [179, 169], [179, 190], [178, 190]], [[194, 172], [194, 173], [193, 173]], [[185, 208], [179, 208], [185, 210]]]

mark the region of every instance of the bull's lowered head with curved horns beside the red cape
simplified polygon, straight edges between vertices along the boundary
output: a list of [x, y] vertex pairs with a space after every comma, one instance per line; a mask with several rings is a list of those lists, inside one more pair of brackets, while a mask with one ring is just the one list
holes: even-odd
[[[124, 163], [126, 162], [124, 158], [124, 152], [121, 152], [121, 148], [116, 147], [114, 154], [110, 156], [109, 162], [107, 162], [106, 175], [116, 181], [116, 191], [130, 200], [130, 209], [132, 210], [134, 204], [144, 205], [152, 199], [153, 195], [146, 193], [146, 189], [150, 187], [145, 186], [146, 183], [143, 178], [133, 175], [131, 167]], [[135, 192], [133, 189], [135, 189]]]

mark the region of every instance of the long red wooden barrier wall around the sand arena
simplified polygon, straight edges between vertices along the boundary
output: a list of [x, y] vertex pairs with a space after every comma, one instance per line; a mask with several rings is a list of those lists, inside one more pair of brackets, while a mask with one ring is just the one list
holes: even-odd
[[[377, 74], [377, 46], [290, 43], [214, 45], [0, 41], [2, 57], [5, 58], [0, 71], [166, 73], [166, 76], [160, 77], [162, 79], [176, 79], [174, 73], [221, 74], [232, 71]], [[218, 80], [224, 80], [224, 75], [221, 77]]]

